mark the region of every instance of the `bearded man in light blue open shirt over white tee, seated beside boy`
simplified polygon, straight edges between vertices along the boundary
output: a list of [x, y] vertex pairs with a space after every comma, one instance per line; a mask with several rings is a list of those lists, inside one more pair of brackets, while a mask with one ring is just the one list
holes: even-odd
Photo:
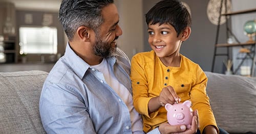
[[133, 106], [130, 61], [116, 46], [122, 30], [113, 0], [63, 0], [59, 20], [69, 42], [42, 87], [46, 132], [144, 133]]

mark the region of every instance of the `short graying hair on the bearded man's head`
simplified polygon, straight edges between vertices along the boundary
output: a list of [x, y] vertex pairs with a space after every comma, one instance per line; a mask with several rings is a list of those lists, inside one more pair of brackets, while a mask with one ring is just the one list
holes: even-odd
[[112, 3], [114, 0], [62, 0], [58, 17], [69, 40], [80, 26], [98, 32], [103, 23], [102, 8]]

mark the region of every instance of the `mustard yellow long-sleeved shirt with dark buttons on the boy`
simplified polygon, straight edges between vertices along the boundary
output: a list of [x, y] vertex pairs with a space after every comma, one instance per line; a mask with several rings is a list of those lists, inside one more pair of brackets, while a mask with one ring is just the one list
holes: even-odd
[[134, 107], [142, 115], [145, 132], [167, 122], [167, 111], [163, 106], [154, 113], [148, 114], [148, 101], [159, 96], [162, 88], [167, 85], [174, 88], [181, 102], [190, 100], [193, 110], [198, 109], [201, 132], [207, 125], [214, 125], [217, 128], [209, 98], [206, 95], [205, 73], [198, 64], [183, 55], [180, 56], [180, 67], [165, 66], [154, 51], [138, 53], [132, 58], [131, 80]]

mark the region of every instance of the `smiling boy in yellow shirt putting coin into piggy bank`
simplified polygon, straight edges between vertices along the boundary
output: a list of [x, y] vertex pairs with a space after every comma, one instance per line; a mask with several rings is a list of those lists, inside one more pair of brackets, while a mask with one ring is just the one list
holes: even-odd
[[153, 50], [136, 54], [131, 67], [134, 107], [142, 115], [143, 130], [163, 128], [166, 103], [190, 100], [200, 131], [218, 133], [206, 95], [207, 77], [198, 64], [179, 53], [191, 32], [187, 9], [177, 0], [160, 1], [146, 13], [146, 23]]

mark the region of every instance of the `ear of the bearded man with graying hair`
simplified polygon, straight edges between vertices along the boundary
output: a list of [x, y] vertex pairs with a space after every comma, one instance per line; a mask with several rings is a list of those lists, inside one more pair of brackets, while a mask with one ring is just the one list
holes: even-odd
[[91, 36], [91, 33], [92, 30], [91, 28], [89, 27], [86, 27], [86, 26], [80, 26], [77, 31], [76, 31], [76, 34], [77, 36], [82, 39], [84, 42], [87, 42], [89, 41], [90, 39], [90, 36]]

